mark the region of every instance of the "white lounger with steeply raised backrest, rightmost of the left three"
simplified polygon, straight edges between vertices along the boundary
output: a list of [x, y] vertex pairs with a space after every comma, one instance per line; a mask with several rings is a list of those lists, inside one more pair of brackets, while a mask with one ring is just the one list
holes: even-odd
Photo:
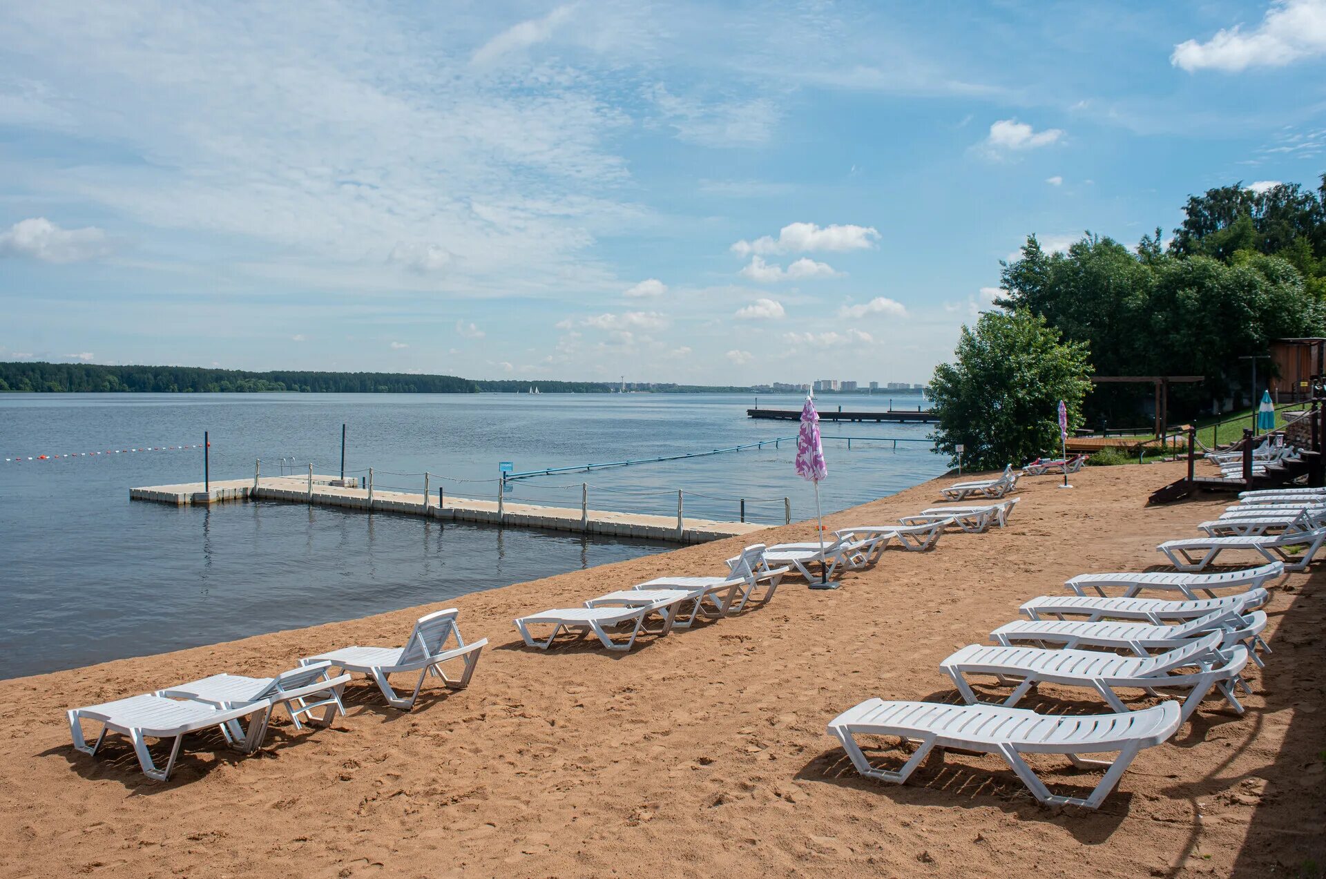
[[[439, 610], [427, 616], [420, 616], [410, 631], [410, 639], [404, 647], [342, 647], [332, 652], [306, 656], [300, 660], [301, 666], [313, 666], [326, 662], [342, 672], [358, 672], [373, 677], [382, 691], [382, 697], [387, 704], [400, 711], [414, 708], [419, 699], [419, 689], [424, 677], [434, 675], [439, 677], [448, 689], [463, 689], [469, 685], [469, 679], [479, 664], [479, 654], [488, 644], [487, 638], [467, 644], [460, 636], [460, 627], [456, 626], [457, 611], [455, 607]], [[456, 646], [447, 650], [447, 642], [455, 638]], [[442, 664], [452, 659], [464, 663], [460, 677], [448, 677], [442, 671]], [[387, 680], [387, 675], [406, 672], [419, 672], [414, 692], [408, 697], [396, 695]]]

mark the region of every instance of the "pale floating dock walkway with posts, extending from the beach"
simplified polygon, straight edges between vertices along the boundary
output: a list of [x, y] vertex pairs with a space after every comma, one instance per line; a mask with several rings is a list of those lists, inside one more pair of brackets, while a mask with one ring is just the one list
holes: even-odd
[[[314, 475], [312, 491], [306, 476], [264, 476], [257, 480], [256, 485], [252, 479], [212, 480], [211, 491], [207, 492], [203, 491], [203, 483], [150, 485], [129, 489], [129, 498], [134, 501], [174, 504], [176, 506], [264, 500], [313, 504], [317, 506], [341, 506], [370, 512], [369, 489], [329, 485], [334, 479], [334, 476]], [[686, 517], [679, 529], [676, 516], [648, 516], [643, 513], [618, 513], [597, 509], [585, 510], [582, 514], [582, 510], [573, 508], [508, 504], [505, 501], [503, 501], [499, 521], [496, 500], [447, 497], [444, 505], [439, 506], [436, 498], [430, 497], [426, 506], [423, 493], [383, 492], [377, 489], [373, 492], [371, 512], [426, 516], [442, 521], [500, 524], [504, 528], [537, 528], [610, 537], [633, 537], [672, 544], [703, 544], [769, 528], [768, 525], [754, 522], [720, 522]]]

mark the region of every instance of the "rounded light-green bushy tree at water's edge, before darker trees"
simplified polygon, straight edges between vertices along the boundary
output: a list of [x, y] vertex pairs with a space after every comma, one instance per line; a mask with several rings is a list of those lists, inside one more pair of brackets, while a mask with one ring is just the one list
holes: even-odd
[[963, 326], [955, 361], [935, 367], [930, 382], [939, 419], [935, 452], [957, 463], [997, 469], [1021, 464], [1059, 444], [1058, 402], [1069, 430], [1082, 423], [1091, 390], [1083, 342], [1061, 342], [1044, 317], [1026, 310], [987, 312], [976, 329]]

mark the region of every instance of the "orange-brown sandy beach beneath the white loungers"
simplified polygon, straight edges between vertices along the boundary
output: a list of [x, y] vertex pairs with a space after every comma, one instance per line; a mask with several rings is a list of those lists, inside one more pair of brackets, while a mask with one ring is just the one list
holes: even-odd
[[[590, 642], [530, 650], [512, 619], [660, 574], [720, 573], [748, 541], [0, 681], [0, 875], [1319, 875], [1319, 573], [1272, 589], [1274, 654], [1265, 670], [1248, 667], [1246, 713], [1208, 699], [1094, 813], [1038, 806], [994, 757], [932, 757], [906, 786], [867, 781], [825, 734], [871, 696], [956, 701], [937, 663], [985, 642], [1022, 601], [1062, 594], [1069, 577], [1159, 566], [1158, 542], [1195, 534], [1231, 502], [1147, 508], [1183, 469], [1087, 468], [1074, 491], [1025, 480], [1002, 530], [888, 550], [835, 591], [789, 578], [766, 607], [626, 655]], [[896, 521], [940, 501], [927, 483], [826, 525]], [[760, 534], [812, 536], [809, 524]], [[468, 689], [426, 684], [411, 713], [357, 680], [333, 728], [276, 721], [252, 757], [194, 736], [168, 784], [142, 776], [125, 738], [97, 758], [70, 746], [66, 708], [220, 671], [269, 675], [345, 644], [399, 644], [416, 616], [444, 606], [489, 647]], [[1049, 685], [1024, 705], [1105, 711], [1086, 691]], [[1099, 777], [1032, 762], [1052, 786], [1081, 791]]]

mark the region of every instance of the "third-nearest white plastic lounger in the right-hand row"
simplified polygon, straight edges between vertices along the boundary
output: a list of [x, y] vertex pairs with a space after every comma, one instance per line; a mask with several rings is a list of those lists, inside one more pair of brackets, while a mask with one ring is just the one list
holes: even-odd
[[1260, 610], [1246, 615], [1233, 610], [1213, 610], [1177, 626], [1116, 620], [1016, 619], [992, 631], [991, 640], [1005, 647], [1032, 642], [1036, 647], [1103, 647], [1131, 650], [1138, 656], [1150, 656], [1155, 651], [1183, 647], [1193, 638], [1208, 632], [1220, 632], [1220, 648], [1228, 650], [1235, 644], [1242, 644], [1252, 660], [1261, 666], [1256, 647], [1266, 646], [1261, 640], [1265, 628], [1266, 614]]

